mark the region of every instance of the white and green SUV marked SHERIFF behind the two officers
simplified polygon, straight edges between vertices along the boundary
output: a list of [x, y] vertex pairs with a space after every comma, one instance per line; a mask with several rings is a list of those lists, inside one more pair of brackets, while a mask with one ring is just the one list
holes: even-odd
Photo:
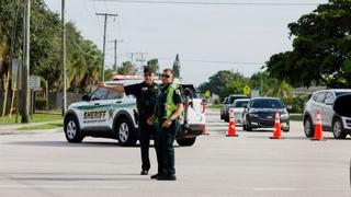
[[[109, 85], [128, 85], [141, 80], [106, 82]], [[197, 97], [192, 84], [181, 84], [185, 116], [178, 132], [177, 142], [189, 147], [205, 127], [205, 105]], [[91, 95], [69, 106], [65, 114], [64, 130], [68, 142], [79, 143], [84, 137], [112, 138], [121, 146], [135, 146], [138, 140], [138, 113], [136, 99], [125, 93], [98, 88]]]

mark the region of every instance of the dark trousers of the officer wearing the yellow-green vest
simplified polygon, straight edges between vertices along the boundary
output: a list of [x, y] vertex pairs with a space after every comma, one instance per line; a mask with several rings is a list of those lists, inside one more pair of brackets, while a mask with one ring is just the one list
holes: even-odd
[[158, 132], [159, 141], [159, 154], [162, 162], [162, 174], [174, 175], [174, 148], [173, 142], [176, 140], [177, 132], [180, 128], [180, 123], [174, 119], [169, 128], [162, 128], [160, 123], [160, 131]]

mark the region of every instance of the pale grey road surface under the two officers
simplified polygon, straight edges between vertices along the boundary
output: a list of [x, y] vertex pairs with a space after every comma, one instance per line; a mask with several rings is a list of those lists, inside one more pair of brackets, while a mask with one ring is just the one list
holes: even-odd
[[59, 131], [1, 135], [0, 196], [351, 196], [350, 138], [310, 141], [298, 121], [283, 140], [240, 128], [238, 138], [227, 138], [218, 117], [207, 115], [210, 136], [177, 147], [177, 182], [138, 175], [139, 148], [115, 140], [69, 144]]

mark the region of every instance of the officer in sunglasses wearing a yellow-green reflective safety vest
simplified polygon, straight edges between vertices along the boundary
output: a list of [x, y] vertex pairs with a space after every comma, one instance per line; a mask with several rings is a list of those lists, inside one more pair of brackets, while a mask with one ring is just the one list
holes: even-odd
[[173, 71], [165, 69], [162, 72], [161, 94], [156, 105], [155, 116], [148, 119], [148, 124], [158, 120], [158, 152], [160, 154], [161, 174], [151, 176], [159, 181], [176, 181], [174, 148], [177, 132], [180, 129], [179, 118], [183, 112], [183, 97], [181, 86], [173, 82]]

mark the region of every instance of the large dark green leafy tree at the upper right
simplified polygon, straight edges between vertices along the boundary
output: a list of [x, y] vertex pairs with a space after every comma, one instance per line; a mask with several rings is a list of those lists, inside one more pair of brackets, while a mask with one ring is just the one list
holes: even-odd
[[351, 86], [350, 0], [329, 0], [288, 24], [293, 50], [273, 55], [270, 76], [294, 86]]

